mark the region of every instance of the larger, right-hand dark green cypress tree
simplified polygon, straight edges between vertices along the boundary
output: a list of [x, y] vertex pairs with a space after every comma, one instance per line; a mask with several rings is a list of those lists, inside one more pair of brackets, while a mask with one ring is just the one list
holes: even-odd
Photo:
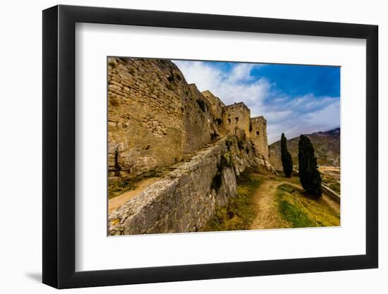
[[303, 189], [308, 192], [310, 197], [318, 199], [322, 196], [322, 179], [317, 169], [317, 159], [314, 154], [314, 147], [310, 139], [301, 135], [299, 140], [299, 178]]

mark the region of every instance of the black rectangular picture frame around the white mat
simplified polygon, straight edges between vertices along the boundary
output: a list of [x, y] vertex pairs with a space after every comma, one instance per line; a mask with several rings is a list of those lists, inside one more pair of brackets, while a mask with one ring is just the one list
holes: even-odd
[[[366, 254], [75, 271], [75, 23], [366, 39]], [[305, 20], [54, 6], [43, 11], [43, 283], [79, 288], [378, 266], [378, 27]]]

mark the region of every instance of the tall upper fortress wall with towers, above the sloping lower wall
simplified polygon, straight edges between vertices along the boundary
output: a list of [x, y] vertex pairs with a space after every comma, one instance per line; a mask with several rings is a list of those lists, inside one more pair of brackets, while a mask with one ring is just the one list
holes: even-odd
[[177, 164], [224, 135], [251, 137], [268, 159], [265, 118], [201, 93], [171, 61], [109, 57], [108, 80], [110, 180]]

